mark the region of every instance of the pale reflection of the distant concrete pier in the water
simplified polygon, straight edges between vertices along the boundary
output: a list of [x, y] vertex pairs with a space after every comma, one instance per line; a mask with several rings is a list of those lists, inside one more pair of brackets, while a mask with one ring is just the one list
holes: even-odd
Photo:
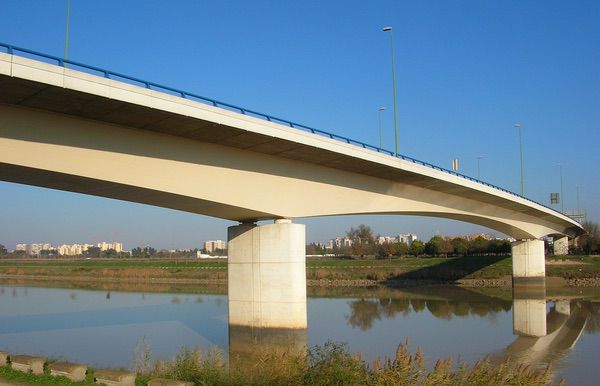
[[513, 286], [513, 333], [520, 336], [546, 336], [545, 286]]

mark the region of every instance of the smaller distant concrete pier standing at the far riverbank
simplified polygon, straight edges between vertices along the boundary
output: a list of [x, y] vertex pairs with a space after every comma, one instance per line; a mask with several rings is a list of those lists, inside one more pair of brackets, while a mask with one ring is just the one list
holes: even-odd
[[544, 281], [546, 277], [546, 260], [544, 242], [542, 240], [521, 240], [511, 244], [513, 283], [519, 279], [531, 281], [536, 278]]

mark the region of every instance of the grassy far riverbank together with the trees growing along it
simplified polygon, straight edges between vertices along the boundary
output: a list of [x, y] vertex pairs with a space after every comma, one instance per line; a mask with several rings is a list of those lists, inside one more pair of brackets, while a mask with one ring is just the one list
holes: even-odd
[[[572, 252], [598, 252], [600, 231], [597, 224], [584, 224], [588, 234], [579, 238]], [[341, 281], [353, 285], [404, 285], [413, 281], [456, 282], [459, 280], [505, 281], [512, 274], [510, 243], [484, 237], [434, 236], [426, 243], [415, 240], [410, 247], [403, 242], [377, 244], [369, 226], [350, 228], [346, 237], [352, 246], [325, 251], [309, 244], [307, 253], [335, 256], [309, 258], [307, 279], [310, 285], [336, 285]], [[5, 248], [0, 245], [0, 255]], [[92, 252], [98, 256], [95, 250]], [[188, 251], [189, 252], [189, 251]], [[188, 253], [186, 252], [186, 253]], [[194, 256], [195, 256], [195, 251]], [[221, 251], [225, 252], [225, 251]], [[104, 252], [103, 252], [104, 253]], [[3, 258], [0, 275], [8, 278], [71, 280], [128, 283], [216, 284], [227, 281], [224, 259], [169, 258], [165, 251], [138, 247], [130, 258]], [[569, 281], [568, 285], [597, 285], [600, 279], [600, 256], [572, 254], [551, 256], [547, 276]]]

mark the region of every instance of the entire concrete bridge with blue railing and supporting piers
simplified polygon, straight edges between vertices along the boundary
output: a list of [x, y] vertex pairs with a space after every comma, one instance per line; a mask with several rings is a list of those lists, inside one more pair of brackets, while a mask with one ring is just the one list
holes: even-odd
[[293, 218], [407, 214], [483, 225], [517, 240], [517, 279], [545, 276], [541, 237], [583, 233], [559, 212], [426, 162], [2, 47], [0, 180], [238, 221], [228, 229], [229, 298], [243, 310], [233, 324], [268, 315], [265, 327], [306, 326], [305, 229]]

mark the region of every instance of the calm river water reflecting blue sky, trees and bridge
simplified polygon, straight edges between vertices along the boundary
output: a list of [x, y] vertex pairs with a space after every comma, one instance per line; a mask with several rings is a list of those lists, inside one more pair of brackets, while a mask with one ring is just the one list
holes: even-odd
[[156, 358], [172, 357], [182, 346], [244, 355], [252, 350], [249, 342], [287, 346], [290, 339], [310, 346], [345, 342], [375, 358], [393, 355], [408, 340], [429, 360], [510, 355], [534, 365], [555, 362], [567, 384], [600, 383], [600, 297], [594, 291], [550, 294], [533, 303], [528, 296], [513, 302], [506, 291], [456, 287], [319, 291], [308, 298], [307, 331], [266, 336], [230, 329], [223, 294], [0, 284], [0, 350], [130, 367], [143, 339]]

